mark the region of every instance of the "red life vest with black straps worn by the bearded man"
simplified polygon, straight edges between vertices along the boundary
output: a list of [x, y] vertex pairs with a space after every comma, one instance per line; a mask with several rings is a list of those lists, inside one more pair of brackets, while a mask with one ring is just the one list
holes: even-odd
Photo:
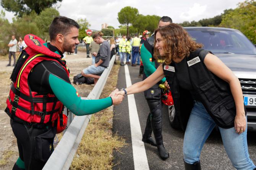
[[36, 35], [28, 34], [24, 37], [28, 45], [18, 56], [16, 66], [11, 74], [11, 90], [6, 101], [5, 112], [11, 117], [28, 123], [50, 123], [58, 118], [63, 111], [63, 104], [54, 94], [37, 95], [31, 91], [28, 84], [29, 73], [33, 67], [44, 60], [57, 61], [65, 69], [68, 77], [69, 71], [65, 61], [60, 55], [45, 47], [45, 43]]

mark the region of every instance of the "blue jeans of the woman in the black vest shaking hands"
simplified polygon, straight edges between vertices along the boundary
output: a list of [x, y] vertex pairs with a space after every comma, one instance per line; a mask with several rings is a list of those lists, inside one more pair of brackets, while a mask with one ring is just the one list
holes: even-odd
[[[216, 123], [212, 120], [201, 102], [195, 101], [191, 111], [183, 142], [184, 160], [188, 164], [197, 162], [205, 141], [211, 134]], [[247, 127], [241, 135], [235, 132], [235, 127], [220, 128], [222, 142], [233, 166], [238, 170], [253, 170], [255, 165], [249, 157], [247, 146]]]

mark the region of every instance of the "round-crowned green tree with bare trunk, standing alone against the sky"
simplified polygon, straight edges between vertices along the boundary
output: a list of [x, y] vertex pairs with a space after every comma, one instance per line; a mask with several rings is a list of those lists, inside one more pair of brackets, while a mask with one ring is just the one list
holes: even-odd
[[138, 9], [126, 6], [118, 12], [118, 21], [120, 24], [126, 25], [126, 35], [129, 35], [129, 24], [133, 23], [136, 16], [139, 14]]

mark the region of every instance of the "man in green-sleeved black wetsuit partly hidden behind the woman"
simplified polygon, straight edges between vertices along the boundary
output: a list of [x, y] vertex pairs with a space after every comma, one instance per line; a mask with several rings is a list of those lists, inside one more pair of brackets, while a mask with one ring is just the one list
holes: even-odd
[[[158, 27], [162, 27], [170, 23], [172, 23], [172, 19], [168, 16], [163, 16], [159, 21]], [[152, 35], [151, 37], [147, 38], [141, 46], [141, 60], [144, 65], [143, 80], [149, 77], [149, 75], [151, 75], [154, 71], [156, 71], [160, 63], [163, 63], [162, 61], [156, 61], [153, 58], [154, 40], [155, 36]], [[153, 146], [157, 146], [157, 150], [161, 159], [167, 159], [169, 157], [169, 153], [164, 148], [162, 137], [162, 102], [161, 89], [159, 88], [160, 83], [164, 83], [165, 86], [168, 85], [164, 78], [152, 88], [144, 91], [150, 112], [147, 117], [146, 128], [142, 141]], [[156, 139], [156, 143], [151, 138], [152, 130]]]

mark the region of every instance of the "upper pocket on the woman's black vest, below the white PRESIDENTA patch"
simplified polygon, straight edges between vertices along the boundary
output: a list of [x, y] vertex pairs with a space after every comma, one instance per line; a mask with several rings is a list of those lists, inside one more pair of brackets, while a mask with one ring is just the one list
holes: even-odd
[[207, 83], [201, 84], [199, 88], [203, 91], [204, 95], [209, 101], [213, 101], [215, 98], [219, 96], [219, 90], [215, 87], [212, 80], [210, 80]]

